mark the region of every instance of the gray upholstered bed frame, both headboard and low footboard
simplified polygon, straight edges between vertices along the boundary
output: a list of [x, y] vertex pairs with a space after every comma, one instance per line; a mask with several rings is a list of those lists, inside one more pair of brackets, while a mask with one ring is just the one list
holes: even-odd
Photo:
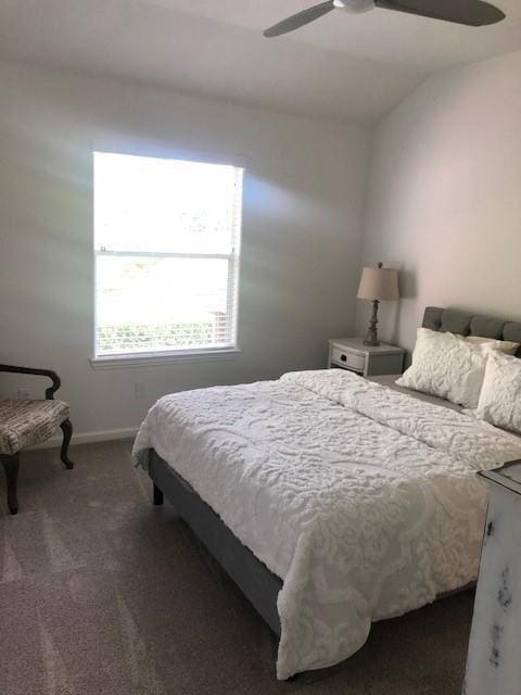
[[[482, 336], [521, 343], [521, 324], [458, 309], [429, 306], [422, 326], [461, 336]], [[521, 349], [518, 356], [521, 357]], [[233, 535], [215, 511], [154, 450], [149, 454], [149, 475], [154, 483], [154, 504], [163, 504], [163, 497], [167, 497], [271, 630], [280, 635], [277, 596], [282, 580]]]

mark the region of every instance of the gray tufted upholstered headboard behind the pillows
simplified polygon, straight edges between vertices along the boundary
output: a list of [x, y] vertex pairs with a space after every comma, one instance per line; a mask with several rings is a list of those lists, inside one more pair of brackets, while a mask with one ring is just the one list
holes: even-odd
[[[428, 306], [422, 326], [431, 330], [450, 331], [460, 336], [482, 336], [483, 338], [521, 343], [521, 324], [471, 314], [470, 312], [460, 312], [455, 308]], [[521, 348], [517, 356], [521, 357]]]

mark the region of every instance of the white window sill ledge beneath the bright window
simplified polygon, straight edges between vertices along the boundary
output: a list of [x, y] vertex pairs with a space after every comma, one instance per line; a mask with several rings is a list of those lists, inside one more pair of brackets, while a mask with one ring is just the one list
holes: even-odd
[[120, 369], [125, 367], [153, 367], [175, 365], [185, 362], [223, 362], [234, 359], [242, 351], [239, 348], [223, 350], [188, 350], [186, 352], [134, 353], [130, 355], [107, 355], [91, 357], [92, 369]]

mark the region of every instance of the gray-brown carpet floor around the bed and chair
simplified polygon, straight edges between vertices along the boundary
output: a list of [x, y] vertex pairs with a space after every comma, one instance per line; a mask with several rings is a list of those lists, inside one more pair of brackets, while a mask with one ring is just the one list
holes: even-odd
[[340, 667], [275, 678], [277, 640], [129, 459], [129, 442], [23, 456], [0, 482], [2, 695], [459, 695], [473, 596], [373, 626]]

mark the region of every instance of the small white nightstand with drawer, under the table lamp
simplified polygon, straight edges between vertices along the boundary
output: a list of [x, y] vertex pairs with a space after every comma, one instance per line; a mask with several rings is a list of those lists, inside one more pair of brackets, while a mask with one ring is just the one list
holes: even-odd
[[378, 348], [364, 344], [364, 338], [332, 338], [329, 341], [329, 368], [348, 369], [363, 377], [402, 374], [405, 350], [380, 343]]

